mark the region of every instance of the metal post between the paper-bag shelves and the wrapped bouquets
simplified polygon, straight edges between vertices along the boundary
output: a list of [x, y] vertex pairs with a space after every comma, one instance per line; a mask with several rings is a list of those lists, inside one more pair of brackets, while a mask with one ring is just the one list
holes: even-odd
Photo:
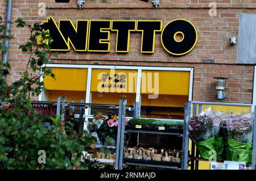
[[190, 115], [191, 115], [191, 101], [185, 103], [185, 110], [184, 110], [184, 128], [183, 128], [183, 145], [182, 145], [183, 154], [182, 154], [182, 160], [181, 160], [181, 169], [183, 170], [188, 169], [189, 134], [188, 134], [187, 123]]

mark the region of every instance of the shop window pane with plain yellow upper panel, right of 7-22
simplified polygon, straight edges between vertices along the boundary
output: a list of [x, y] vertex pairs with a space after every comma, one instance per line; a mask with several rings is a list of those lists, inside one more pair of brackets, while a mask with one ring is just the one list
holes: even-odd
[[142, 71], [141, 117], [183, 119], [189, 71]]

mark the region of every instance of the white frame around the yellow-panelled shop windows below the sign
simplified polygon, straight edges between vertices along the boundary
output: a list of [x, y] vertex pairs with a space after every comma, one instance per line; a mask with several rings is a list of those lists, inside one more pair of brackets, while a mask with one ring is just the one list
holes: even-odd
[[[143, 70], [162, 70], [162, 71], [189, 71], [190, 72], [190, 80], [189, 80], [189, 96], [188, 100], [192, 101], [193, 94], [193, 74], [194, 68], [168, 68], [168, 67], [154, 67], [154, 66], [116, 66], [116, 65], [76, 65], [76, 64], [47, 64], [43, 65], [47, 68], [79, 68], [79, 69], [88, 69], [87, 73], [87, 85], [86, 85], [86, 96], [85, 103], [91, 102], [91, 91], [90, 85], [92, 82], [92, 69], [120, 69], [120, 70], [137, 70], [137, 90], [136, 90], [136, 102], [141, 103], [141, 73]], [[40, 81], [43, 81], [43, 76], [40, 78]], [[88, 91], [89, 90], [89, 91]], [[43, 99], [43, 91], [40, 93], [38, 100]], [[141, 107], [141, 105], [140, 105]], [[93, 118], [93, 115], [89, 114], [90, 109], [85, 109], [85, 122]], [[147, 119], [143, 117], [143, 119]], [[183, 120], [174, 120], [174, 119], [159, 119], [166, 121], [183, 121]]]

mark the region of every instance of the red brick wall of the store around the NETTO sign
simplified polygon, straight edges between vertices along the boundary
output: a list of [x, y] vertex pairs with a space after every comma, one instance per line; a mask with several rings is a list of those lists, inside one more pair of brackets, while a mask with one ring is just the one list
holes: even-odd
[[[237, 45], [230, 46], [230, 37], [238, 31], [241, 13], [256, 13], [255, 0], [217, 1], [217, 16], [210, 17], [209, 0], [161, 0], [159, 9], [151, 3], [134, 0], [86, 1], [85, 8], [79, 10], [76, 1], [70, 3], [47, 3], [46, 16], [55, 20], [71, 19], [158, 19], [165, 26], [172, 19], [184, 18], [195, 24], [199, 41], [196, 47], [185, 56], [175, 57], [168, 54], [160, 43], [160, 33], [156, 35], [155, 53], [142, 54], [141, 33], [132, 33], [130, 52], [115, 53], [115, 36], [111, 33], [110, 53], [76, 53], [73, 50], [60, 53], [52, 62], [61, 64], [112, 64], [168, 67], [194, 67], [193, 100], [220, 101], [216, 99], [216, 76], [228, 77], [227, 98], [223, 102], [251, 103], [253, 88], [253, 66], [237, 64]], [[125, 3], [124, 3], [125, 2]], [[1, 5], [1, 3], [0, 3]], [[36, 23], [47, 17], [38, 16], [38, 1], [14, 1], [13, 20], [23, 18], [28, 23]], [[2, 6], [1, 6], [2, 8]], [[0, 8], [0, 13], [1, 13]], [[28, 32], [12, 26], [12, 35], [16, 37], [10, 43], [9, 62], [13, 67], [9, 80], [19, 77], [19, 72], [26, 66], [27, 55], [18, 50], [18, 45], [28, 38]], [[239, 35], [239, 32], [236, 36]], [[212, 58], [213, 64], [204, 64], [204, 58]]]

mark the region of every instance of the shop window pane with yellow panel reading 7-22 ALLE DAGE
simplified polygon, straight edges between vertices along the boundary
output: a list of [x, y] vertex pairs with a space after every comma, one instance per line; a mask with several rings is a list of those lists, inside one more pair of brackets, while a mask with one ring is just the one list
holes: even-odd
[[[119, 105], [119, 99], [126, 99], [127, 107], [133, 107], [136, 86], [137, 70], [93, 69], [91, 103]], [[102, 108], [91, 108], [90, 115], [104, 111]], [[118, 115], [118, 109], [113, 111]], [[131, 111], [127, 113], [127, 116], [133, 116]]]

